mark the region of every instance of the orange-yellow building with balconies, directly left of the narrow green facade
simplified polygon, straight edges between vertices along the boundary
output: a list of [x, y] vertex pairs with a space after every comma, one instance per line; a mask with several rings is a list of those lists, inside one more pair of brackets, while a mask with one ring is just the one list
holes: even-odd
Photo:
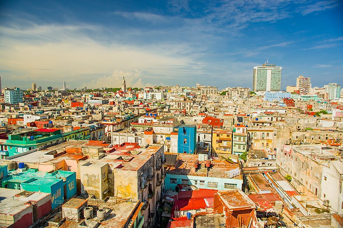
[[232, 131], [230, 129], [213, 129], [212, 156], [232, 154]]

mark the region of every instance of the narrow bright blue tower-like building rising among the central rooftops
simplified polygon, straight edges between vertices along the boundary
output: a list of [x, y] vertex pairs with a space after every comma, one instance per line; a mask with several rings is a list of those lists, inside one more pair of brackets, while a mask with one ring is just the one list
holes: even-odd
[[177, 152], [194, 154], [197, 149], [197, 126], [183, 124], [179, 127]]

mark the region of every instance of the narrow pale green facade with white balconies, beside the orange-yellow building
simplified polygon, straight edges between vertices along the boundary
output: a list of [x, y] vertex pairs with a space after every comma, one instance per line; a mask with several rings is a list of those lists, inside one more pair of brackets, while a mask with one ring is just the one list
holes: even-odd
[[233, 154], [243, 154], [247, 152], [248, 134], [247, 127], [244, 125], [235, 125], [233, 130], [232, 152]]

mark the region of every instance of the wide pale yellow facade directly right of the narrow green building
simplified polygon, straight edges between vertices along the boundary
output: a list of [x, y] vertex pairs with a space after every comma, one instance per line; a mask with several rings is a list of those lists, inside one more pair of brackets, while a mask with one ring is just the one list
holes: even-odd
[[274, 129], [248, 129], [250, 137], [250, 149], [273, 151], [273, 138], [276, 136]]

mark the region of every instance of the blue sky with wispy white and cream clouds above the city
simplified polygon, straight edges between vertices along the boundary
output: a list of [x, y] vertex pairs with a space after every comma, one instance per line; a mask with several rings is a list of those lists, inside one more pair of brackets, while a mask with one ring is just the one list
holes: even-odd
[[343, 85], [339, 0], [0, 2], [2, 86], [251, 87], [252, 68], [283, 67], [312, 86]]

